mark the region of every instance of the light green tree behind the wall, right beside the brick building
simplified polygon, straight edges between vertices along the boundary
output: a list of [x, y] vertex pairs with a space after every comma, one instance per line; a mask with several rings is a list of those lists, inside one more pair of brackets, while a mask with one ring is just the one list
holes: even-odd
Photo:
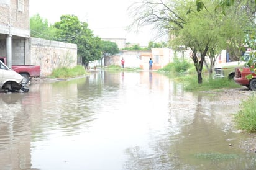
[[49, 25], [47, 19], [43, 19], [39, 14], [30, 17], [30, 34], [35, 38], [55, 40], [55, 28]]

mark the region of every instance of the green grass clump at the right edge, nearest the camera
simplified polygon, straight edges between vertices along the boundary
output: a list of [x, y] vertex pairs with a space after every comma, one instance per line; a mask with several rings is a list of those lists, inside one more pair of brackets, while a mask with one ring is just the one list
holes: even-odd
[[256, 101], [252, 95], [246, 101], [242, 101], [239, 105], [240, 109], [235, 114], [235, 123], [237, 128], [246, 130], [247, 132], [256, 132]]

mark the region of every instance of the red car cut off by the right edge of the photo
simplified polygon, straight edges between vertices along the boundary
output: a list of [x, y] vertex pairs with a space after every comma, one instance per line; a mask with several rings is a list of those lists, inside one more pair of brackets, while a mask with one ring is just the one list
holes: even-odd
[[[247, 79], [247, 75], [252, 74], [252, 79]], [[252, 91], [256, 90], [256, 74], [249, 67], [235, 68], [234, 81], [237, 84], [246, 86]]]

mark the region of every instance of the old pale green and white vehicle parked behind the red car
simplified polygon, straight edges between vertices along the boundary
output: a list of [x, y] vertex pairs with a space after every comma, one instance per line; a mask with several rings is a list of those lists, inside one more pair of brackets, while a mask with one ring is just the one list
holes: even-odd
[[[255, 53], [256, 50], [246, 51], [243, 58], [247, 58], [251, 53]], [[229, 78], [232, 79], [235, 76], [235, 68], [244, 67], [245, 61], [232, 61], [227, 63], [216, 63], [214, 66], [214, 78]]]

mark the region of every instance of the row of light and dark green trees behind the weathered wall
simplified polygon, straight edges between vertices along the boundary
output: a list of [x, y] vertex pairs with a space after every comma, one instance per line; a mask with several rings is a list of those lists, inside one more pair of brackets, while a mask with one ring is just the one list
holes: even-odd
[[37, 14], [30, 18], [30, 30], [32, 37], [75, 43], [86, 68], [89, 61], [101, 59], [102, 54], [119, 53], [116, 43], [101, 41], [86, 22], [80, 22], [74, 15], [63, 15], [59, 22], [49, 26], [48, 20]]

